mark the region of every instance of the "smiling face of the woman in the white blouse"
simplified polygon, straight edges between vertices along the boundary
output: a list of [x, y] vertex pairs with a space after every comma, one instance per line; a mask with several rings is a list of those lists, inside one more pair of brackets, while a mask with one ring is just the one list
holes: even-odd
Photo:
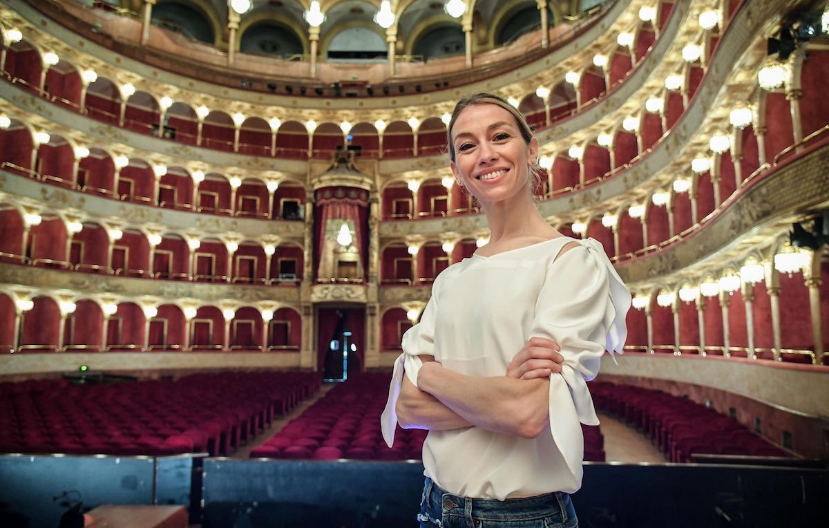
[[449, 167], [458, 184], [483, 206], [527, 192], [538, 141], [524, 143], [515, 117], [507, 110], [497, 104], [468, 106], [455, 120], [452, 142], [455, 161]]

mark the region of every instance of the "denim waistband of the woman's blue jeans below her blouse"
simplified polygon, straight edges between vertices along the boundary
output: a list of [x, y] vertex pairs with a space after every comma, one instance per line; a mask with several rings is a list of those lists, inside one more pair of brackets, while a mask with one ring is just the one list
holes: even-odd
[[521, 521], [539, 519], [559, 514], [561, 521], [568, 520], [570, 494], [565, 492], [545, 493], [535, 497], [518, 499], [477, 499], [459, 497], [445, 492], [434, 481], [426, 477], [424, 498], [434, 509], [443, 511], [444, 516], [474, 517], [482, 521]]

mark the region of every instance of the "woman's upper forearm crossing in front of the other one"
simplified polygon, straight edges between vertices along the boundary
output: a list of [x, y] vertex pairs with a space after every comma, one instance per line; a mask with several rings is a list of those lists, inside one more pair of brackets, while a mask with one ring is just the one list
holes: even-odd
[[461, 419], [483, 429], [535, 438], [550, 425], [550, 380], [482, 378], [430, 362], [420, 368], [418, 386]]

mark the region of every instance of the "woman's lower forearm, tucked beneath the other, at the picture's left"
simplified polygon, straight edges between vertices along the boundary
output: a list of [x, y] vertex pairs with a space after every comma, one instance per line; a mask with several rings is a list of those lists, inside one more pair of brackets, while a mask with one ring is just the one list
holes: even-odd
[[397, 421], [403, 429], [444, 431], [472, 427], [472, 424], [433, 395], [415, 387], [406, 375], [403, 375], [395, 411]]

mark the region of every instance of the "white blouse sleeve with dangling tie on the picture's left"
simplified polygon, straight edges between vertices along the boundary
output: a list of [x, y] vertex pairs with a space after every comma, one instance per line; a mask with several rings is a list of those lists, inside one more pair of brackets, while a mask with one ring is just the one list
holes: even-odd
[[435, 312], [438, 310], [435, 298], [438, 296], [439, 283], [444, 274], [446, 274], [445, 271], [434, 280], [432, 296], [429, 298], [429, 303], [426, 303], [423, 313], [420, 314], [420, 321], [403, 334], [400, 343], [403, 353], [395, 360], [394, 370], [391, 372], [389, 398], [385, 402], [385, 409], [383, 409], [383, 414], [380, 417], [383, 439], [389, 447], [395, 442], [395, 429], [397, 428], [395, 405], [400, 397], [403, 373], [405, 371], [412, 385], [416, 387], [417, 375], [420, 367], [423, 366], [420, 356], [434, 356], [434, 325], [437, 320]]

